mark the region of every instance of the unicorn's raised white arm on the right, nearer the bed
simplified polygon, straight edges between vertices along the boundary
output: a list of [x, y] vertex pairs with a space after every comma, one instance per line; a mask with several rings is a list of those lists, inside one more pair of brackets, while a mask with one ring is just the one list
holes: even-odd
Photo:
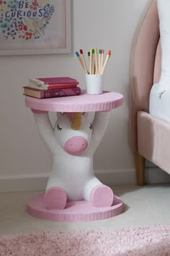
[[104, 136], [104, 132], [107, 129], [109, 123], [109, 111], [107, 112], [96, 112], [94, 121], [92, 124], [92, 135], [91, 135], [91, 148], [92, 153], [97, 150], [99, 143]]

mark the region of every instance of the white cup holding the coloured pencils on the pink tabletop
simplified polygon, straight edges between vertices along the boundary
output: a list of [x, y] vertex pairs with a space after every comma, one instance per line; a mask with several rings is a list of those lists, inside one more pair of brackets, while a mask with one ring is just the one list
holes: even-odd
[[103, 74], [86, 74], [86, 93], [102, 94], [104, 87]]

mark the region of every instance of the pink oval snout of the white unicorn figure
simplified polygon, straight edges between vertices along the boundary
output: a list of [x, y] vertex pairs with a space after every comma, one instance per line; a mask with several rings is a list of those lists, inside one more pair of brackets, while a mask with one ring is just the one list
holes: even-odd
[[66, 141], [64, 145], [64, 150], [71, 155], [80, 155], [86, 150], [88, 142], [84, 137], [74, 136]]

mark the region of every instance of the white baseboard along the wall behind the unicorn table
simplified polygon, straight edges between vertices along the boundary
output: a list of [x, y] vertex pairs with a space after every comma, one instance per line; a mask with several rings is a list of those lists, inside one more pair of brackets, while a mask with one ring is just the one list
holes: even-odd
[[[94, 171], [97, 178], [108, 186], [134, 185], [135, 169]], [[50, 174], [0, 176], [0, 192], [42, 191]], [[170, 175], [156, 167], [146, 168], [146, 184], [170, 182]]]

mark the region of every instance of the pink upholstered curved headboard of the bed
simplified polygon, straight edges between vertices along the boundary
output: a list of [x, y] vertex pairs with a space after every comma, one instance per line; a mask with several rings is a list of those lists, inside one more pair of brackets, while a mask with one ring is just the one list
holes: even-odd
[[153, 82], [161, 72], [157, 1], [150, 0], [133, 38], [130, 64], [130, 146], [135, 152], [137, 143], [138, 111], [149, 109], [149, 95]]

